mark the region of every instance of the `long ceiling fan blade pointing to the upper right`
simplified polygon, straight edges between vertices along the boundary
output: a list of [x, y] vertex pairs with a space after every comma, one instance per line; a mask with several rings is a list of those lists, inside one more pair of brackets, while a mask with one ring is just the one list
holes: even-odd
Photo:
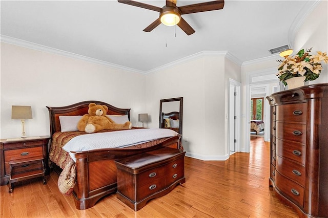
[[224, 0], [204, 2], [199, 4], [178, 7], [181, 14], [191, 14], [203, 11], [220, 10], [224, 7]]

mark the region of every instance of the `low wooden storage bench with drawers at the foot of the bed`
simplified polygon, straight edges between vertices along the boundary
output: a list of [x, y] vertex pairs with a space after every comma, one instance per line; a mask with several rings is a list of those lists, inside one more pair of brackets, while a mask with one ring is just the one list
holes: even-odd
[[185, 153], [161, 148], [116, 160], [117, 198], [135, 211], [186, 182]]

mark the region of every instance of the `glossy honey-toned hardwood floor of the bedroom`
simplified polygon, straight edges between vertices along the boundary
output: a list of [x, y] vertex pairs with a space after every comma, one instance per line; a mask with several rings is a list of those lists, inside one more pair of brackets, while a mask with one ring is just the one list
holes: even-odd
[[111, 194], [87, 210], [75, 209], [72, 197], [60, 194], [58, 176], [47, 185], [33, 179], [1, 186], [1, 217], [298, 217], [269, 188], [269, 143], [252, 137], [250, 154], [237, 152], [227, 161], [185, 158], [186, 183], [153, 199], [135, 212]]

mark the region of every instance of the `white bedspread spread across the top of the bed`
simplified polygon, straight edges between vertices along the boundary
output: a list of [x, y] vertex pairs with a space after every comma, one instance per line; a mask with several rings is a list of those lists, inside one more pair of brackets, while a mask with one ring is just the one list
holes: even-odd
[[178, 135], [177, 132], [167, 128], [142, 128], [94, 133], [74, 137], [64, 145], [63, 149], [70, 152], [70, 156], [75, 161], [71, 151], [127, 147], [176, 135]]

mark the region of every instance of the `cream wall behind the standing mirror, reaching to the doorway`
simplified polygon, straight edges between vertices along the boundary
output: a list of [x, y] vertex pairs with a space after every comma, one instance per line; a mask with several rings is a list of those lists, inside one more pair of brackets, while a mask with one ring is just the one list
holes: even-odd
[[187, 156], [227, 159], [228, 78], [239, 80], [240, 69], [224, 55], [205, 55], [146, 75], [147, 113], [156, 116], [149, 126], [158, 126], [160, 99], [183, 97]]

